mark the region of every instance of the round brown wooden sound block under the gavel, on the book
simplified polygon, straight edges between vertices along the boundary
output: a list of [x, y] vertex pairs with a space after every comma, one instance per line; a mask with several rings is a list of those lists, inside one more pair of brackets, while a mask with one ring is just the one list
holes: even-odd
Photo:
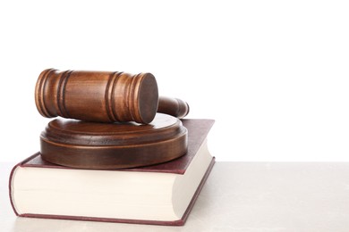
[[123, 169], [174, 160], [187, 152], [187, 129], [157, 113], [148, 125], [57, 119], [41, 133], [41, 156], [72, 168]]

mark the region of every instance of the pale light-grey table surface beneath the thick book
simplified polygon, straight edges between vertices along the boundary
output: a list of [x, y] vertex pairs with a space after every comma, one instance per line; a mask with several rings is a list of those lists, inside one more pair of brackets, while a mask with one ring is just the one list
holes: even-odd
[[1, 231], [349, 231], [349, 162], [217, 162], [183, 227], [16, 217], [1, 163]]

